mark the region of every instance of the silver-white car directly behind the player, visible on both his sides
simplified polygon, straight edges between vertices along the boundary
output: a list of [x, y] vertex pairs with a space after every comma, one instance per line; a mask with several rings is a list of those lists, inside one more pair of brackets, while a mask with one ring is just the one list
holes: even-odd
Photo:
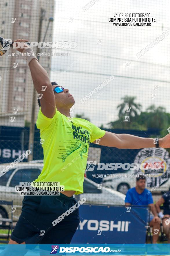
[[[7, 164], [0, 164], [0, 171], [2, 171]], [[24, 196], [20, 196], [19, 192], [15, 191], [15, 186], [19, 182], [32, 182], [41, 173], [43, 163], [36, 161], [31, 163], [18, 163], [14, 168], [9, 169], [7, 173], [0, 177], [0, 200], [12, 201], [13, 207], [16, 207], [13, 213], [13, 220], [18, 221], [21, 214], [22, 201]], [[124, 205], [125, 195], [102, 187], [98, 189], [98, 184], [85, 177], [84, 193], [77, 196], [77, 199], [86, 198], [88, 204], [112, 204]], [[7, 205], [0, 205], [0, 218], [10, 217], [11, 207]]]

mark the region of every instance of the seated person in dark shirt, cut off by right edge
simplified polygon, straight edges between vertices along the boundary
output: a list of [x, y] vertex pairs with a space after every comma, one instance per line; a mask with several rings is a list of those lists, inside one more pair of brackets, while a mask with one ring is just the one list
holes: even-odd
[[[163, 213], [160, 210], [160, 205], [163, 204]], [[155, 207], [158, 212], [158, 216], [162, 219], [163, 231], [168, 238], [170, 243], [170, 191], [167, 191], [162, 197], [156, 202]]]

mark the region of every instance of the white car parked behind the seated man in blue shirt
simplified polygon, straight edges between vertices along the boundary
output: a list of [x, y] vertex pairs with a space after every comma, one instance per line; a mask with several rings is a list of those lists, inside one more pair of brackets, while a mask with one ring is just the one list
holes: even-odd
[[[170, 159], [168, 160], [170, 166]], [[129, 170], [126, 173], [115, 173], [114, 177], [103, 178], [102, 184], [106, 188], [114, 189], [120, 193], [126, 195], [128, 189], [136, 186], [136, 176], [130, 177], [135, 174], [134, 170]], [[153, 189], [154, 192], [169, 191], [170, 190], [170, 175], [169, 170], [162, 176], [147, 178], [146, 189]]]

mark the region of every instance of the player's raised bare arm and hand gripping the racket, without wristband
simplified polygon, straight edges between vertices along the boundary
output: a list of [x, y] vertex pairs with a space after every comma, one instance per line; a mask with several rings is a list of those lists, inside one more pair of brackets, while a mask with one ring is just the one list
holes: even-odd
[[[28, 40], [17, 39], [14, 42], [28, 42]], [[17, 50], [21, 53], [23, 52], [24, 54], [26, 54], [27, 52], [33, 53], [32, 49], [28, 45], [24, 44], [24, 46], [26, 47], [26, 49], [18, 48]], [[31, 61], [29, 62], [29, 67], [34, 87], [38, 94], [42, 94], [42, 98], [40, 99], [41, 111], [46, 117], [53, 118], [56, 109], [55, 96], [49, 76], [46, 70], [40, 65], [36, 58], [31, 59]], [[43, 86], [47, 86], [45, 91], [42, 91]]]

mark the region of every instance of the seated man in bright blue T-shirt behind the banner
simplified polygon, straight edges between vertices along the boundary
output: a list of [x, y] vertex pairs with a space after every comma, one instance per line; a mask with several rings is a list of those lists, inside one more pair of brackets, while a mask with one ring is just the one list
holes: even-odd
[[[146, 177], [139, 175], [136, 178], [136, 187], [127, 191], [125, 205], [148, 205], [151, 208], [149, 226], [152, 227], [153, 243], [157, 243], [161, 220], [157, 215], [155, 205], [153, 204], [152, 194], [148, 189], [145, 189]], [[155, 233], [155, 234], [154, 234]]]

